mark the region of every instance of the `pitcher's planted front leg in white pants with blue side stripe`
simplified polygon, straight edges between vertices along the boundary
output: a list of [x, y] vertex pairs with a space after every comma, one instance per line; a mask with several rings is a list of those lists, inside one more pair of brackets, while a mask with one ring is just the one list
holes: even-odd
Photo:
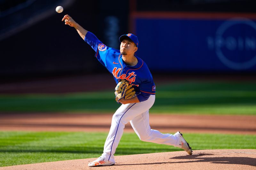
[[149, 97], [146, 101], [121, 105], [116, 110], [116, 113], [112, 117], [111, 127], [104, 145], [102, 157], [111, 162], [115, 161], [114, 153], [123, 135], [125, 124], [153, 106], [155, 96], [151, 96], [153, 97]]

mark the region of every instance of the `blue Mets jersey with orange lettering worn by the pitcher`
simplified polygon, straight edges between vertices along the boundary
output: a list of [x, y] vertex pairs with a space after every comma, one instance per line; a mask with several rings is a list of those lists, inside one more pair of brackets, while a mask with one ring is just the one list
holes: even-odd
[[116, 84], [126, 79], [134, 87], [139, 101], [145, 101], [156, 94], [156, 85], [147, 64], [138, 56], [135, 66], [126, 65], [119, 50], [107, 47], [93, 33], [88, 32], [84, 41], [96, 52], [95, 57], [113, 74]]

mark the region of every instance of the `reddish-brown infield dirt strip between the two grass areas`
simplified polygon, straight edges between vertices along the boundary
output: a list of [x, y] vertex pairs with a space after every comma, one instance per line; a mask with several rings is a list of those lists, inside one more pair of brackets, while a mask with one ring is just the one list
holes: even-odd
[[[0, 130], [108, 132], [112, 114], [0, 114]], [[151, 129], [161, 132], [256, 134], [256, 116], [150, 114]], [[133, 132], [130, 123], [124, 132]]]

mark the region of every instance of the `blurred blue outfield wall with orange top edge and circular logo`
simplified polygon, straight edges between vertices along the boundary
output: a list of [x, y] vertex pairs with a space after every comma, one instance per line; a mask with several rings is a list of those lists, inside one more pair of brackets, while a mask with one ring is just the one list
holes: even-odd
[[255, 71], [256, 14], [133, 12], [137, 55], [151, 70]]

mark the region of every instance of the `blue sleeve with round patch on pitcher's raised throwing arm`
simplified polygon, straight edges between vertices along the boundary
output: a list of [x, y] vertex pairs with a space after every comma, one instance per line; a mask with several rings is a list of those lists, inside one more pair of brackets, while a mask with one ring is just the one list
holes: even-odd
[[84, 41], [87, 42], [96, 52], [95, 57], [97, 60], [99, 60], [102, 65], [107, 67], [106, 57], [111, 48], [103, 44], [93, 33], [89, 31], [86, 33]]

